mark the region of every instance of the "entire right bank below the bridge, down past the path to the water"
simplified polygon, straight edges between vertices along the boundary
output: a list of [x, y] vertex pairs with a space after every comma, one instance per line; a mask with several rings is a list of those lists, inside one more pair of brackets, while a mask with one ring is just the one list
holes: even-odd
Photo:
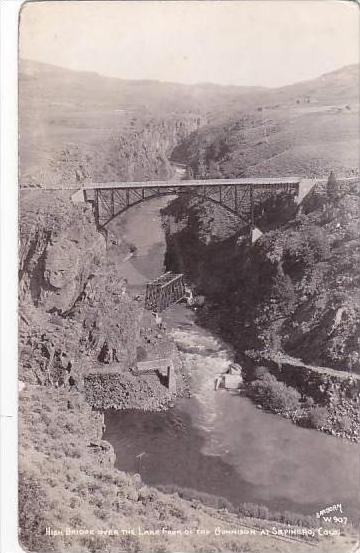
[[[358, 371], [358, 202], [357, 184], [336, 201], [315, 190], [279, 228], [275, 202], [269, 230], [254, 245], [210, 203], [182, 197], [163, 210], [166, 266], [207, 297], [198, 322], [233, 345], [249, 396], [302, 426], [353, 441], [360, 433], [357, 376], [350, 374]], [[301, 361], [279, 364], [279, 354]], [[309, 368], [325, 364], [328, 374]], [[272, 374], [267, 382], [254, 374], [262, 365]]]

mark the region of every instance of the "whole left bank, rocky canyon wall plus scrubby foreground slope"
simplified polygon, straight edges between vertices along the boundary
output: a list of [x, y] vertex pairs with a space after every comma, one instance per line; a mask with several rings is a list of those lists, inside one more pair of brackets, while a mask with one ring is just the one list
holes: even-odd
[[[139, 353], [161, 357], [169, 338], [127, 294], [89, 207], [71, 205], [67, 193], [27, 190], [20, 217], [21, 545], [44, 553], [146, 553], [149, 543], [164, 553], [302, 553], [310, 527], [317, 551], [329, 551], [333, 541], [319, 539], [313, 517], [253, 504], [235, 509], [191, 490], [163, 493], [114, 468], [114, 450], [102, 439], [104, 418], [87, 403], [83, 380], [94, 367], [112, 365], [117, 378], [126, 373], [131, 402], [139, 379], [129, 365]], [[136, 407], [158, 409], [158, 393], [149, 384]], [[288, 522], [301, 541], [272, 534]], [[337, 551], [348, 550], [352, 532], [337, 539]]]

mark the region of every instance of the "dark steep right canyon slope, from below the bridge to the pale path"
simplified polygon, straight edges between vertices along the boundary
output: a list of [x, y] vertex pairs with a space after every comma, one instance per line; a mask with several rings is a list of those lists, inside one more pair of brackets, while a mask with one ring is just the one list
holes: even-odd
[[168, 267], [212, 298], [239, 349], [360, 373], [359, 184], [344, 188], [315, 189], [254, 245], [224, 210], [182, 196], [163, 210]]

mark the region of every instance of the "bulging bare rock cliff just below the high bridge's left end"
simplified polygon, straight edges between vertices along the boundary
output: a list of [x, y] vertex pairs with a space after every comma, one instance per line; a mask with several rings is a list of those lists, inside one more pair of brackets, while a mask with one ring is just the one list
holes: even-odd
[[65, 313], [104, 256], [105, 238], [91, 208], [67, 193], [24, 191], [20, 211], [20, 303]]

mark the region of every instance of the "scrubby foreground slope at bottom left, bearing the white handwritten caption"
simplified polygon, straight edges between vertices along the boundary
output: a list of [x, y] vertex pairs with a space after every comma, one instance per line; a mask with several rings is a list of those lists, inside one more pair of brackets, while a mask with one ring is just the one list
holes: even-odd
[[[31, 425], [31, 431], [29, 426]], [[81, 394], [29, 385], [20, 394], [20, 543], [29, 551], [349, 551], [352, 532], [320, 537], [284, 521], [235, 514], [224, 503], [180, 490], [164, 493], [138, 474], [114, 469], [114, 452], [101, 440], [103, 419]], [[179, 492], [179, 493], [178, 493]], [[250, 506], [249, 506], [250, 509]], [[261, 514], [266, 514], [266, 511]], [[300, 521], [301, 522], [301, 521]], [[294, 521], [294, 524], [295, 521]], [[274, 530], [275, 529], [275, 530]], [[275, 533], [276, 532], [276, 533]], [[285, 535], [285, 534], [284, 534]], [[335, 549], [335, 544], [338, 548]]]

